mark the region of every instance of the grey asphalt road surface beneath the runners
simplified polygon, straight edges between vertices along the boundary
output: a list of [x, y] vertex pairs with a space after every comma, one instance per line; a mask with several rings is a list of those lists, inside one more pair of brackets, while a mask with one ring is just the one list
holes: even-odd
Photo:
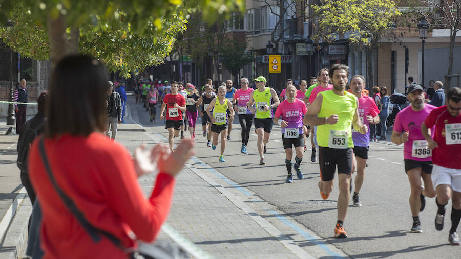
[[[130, 97], [131, 98], [131, 97]], [[148, 112], [142, 105], [134, 104], [141, 125], [167, 137], [162, 120], [149, 122]], [[451, 226], [451, 202], [447, 206], [445, 228], [435, 230], [436, 205], [434, 198], [426, 198], [426, 208], [420, 214], [423, 233], [411, 233], [412, 217], [408, 204], [410, 185], [403, 166], [403, 146], [387, 142], [371, 143], [365, 181], [360, 191], [362, 207], [350, 203], [345, 220], [346, 239], [334, 239], [333, 228], [337, 220], [338, 186], [335, 182], [328, 200], [323, 201], [317, 183], [320, 179], [318, 162], [310, 161], [310, 150], [304, 153], [301, 163], [304, 179], [294, 174], [293, 183], [285, 183], [285, 153], [281, 142], [280, 126], [273, 126], [273, 133], [267, 144], [266, 164], [259, 165], [256, 135], [248, 143], [248, 154], [240, 153], [240, 125], [234, 120], [232, 141], [227, 142], [225, 163], [219, 163], [219, 145], [216, 150], [206, 147], [201, 135], [201, 123], [197, 122], [195, 156], [212, 166], [227, 178], [254, 192], [263, 201], [283, 211], [283, 217], [302, 224], [311, 230], [320, 241], [332, 244], [353, 258], [459, 258], [459, 246], [448, 244]], [[188, 137], [189, 133], [185, 133]], [[388, 137], [390, 139], [390, 137]], [[307, 145], [310, 148], [310, 143]], [[352, 197], [351, 197], [352, 198]], [[257, 205], [256, 205], [257, 206]], [[260, 214], [273, 217], [265, 208]], [[281, 227], [282, 228], [282, 227]], [[458, 231], [459, 232], [459, 231]], [[317, 242], [296, 240], [299, 246], [309, 251]]]

